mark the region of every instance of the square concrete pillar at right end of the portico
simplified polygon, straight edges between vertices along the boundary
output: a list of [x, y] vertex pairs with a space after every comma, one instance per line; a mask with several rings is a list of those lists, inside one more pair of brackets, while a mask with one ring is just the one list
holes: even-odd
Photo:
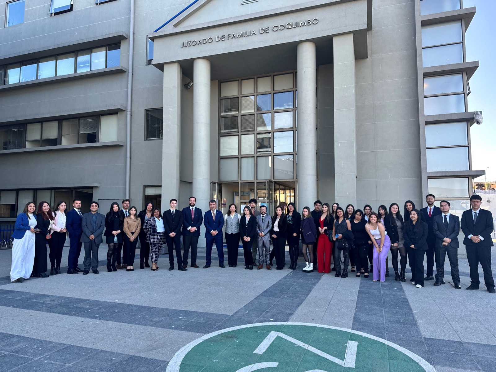
[[[355, 51], [353, 35], [334, 36], [335, 201], [357, 205]], [[329, 200], [332, 201], [332, 200]]]

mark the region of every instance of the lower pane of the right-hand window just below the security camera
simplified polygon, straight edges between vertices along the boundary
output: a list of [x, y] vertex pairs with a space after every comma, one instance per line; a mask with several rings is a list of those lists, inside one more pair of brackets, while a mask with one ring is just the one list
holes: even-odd
[[468, 171], [468, 147], [427, 149], [427, 171]]

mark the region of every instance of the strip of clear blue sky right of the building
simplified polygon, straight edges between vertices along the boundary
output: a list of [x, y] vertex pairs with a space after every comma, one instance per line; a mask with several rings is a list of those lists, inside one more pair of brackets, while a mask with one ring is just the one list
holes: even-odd
[[472, 169], [489, 167], [487, 180], [496, 181], [496, 0], [463, 0], [464, 8], [472, 6], [477, 13], [465, 34], [465, 48], [467, 62], [479, 61], [480, 66], [469, 82], [468, 111], [484, 116], [482, 125], [470, 129]]

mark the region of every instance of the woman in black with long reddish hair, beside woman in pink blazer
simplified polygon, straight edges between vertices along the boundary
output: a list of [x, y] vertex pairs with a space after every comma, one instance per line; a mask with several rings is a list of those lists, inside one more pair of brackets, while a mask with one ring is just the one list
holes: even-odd
[[37, 223], [35, 231], [38, 231], [38, 234], [35, 235], [33, 266], [33, 276], [36, 278], [48, 278], [46, 274], [48, 270], [47, 239], [50, 239], [50, 228], [53, 221], [54, 216], [50, 210], [50, 204], [42, 201], [38, 204], [38, 212], [36, 214]]

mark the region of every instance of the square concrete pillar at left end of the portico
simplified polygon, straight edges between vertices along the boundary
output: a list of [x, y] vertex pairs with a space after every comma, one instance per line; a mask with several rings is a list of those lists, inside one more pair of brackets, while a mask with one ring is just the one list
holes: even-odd
[[162, 141], [162, 199], [179, 198], [181, 170], [181, 65], [164, 64], [164, 126]]

